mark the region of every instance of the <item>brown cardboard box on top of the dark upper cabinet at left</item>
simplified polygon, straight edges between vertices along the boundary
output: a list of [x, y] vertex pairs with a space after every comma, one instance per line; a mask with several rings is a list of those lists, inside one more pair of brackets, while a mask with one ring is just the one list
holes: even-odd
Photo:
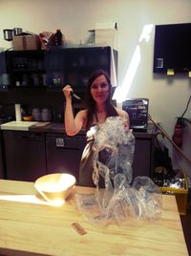
[[40, 40], [38, 35], [16, 35], [12, 39], [13, 50], [38, 50], [40, 49]]

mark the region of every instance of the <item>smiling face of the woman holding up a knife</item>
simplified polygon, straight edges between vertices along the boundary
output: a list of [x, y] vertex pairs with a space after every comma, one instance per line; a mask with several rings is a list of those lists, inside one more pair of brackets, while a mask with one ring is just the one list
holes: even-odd
[[91, 86], [91, 94], [96, 103], [104, 103], [110, 94], [110, 85], [105, 75], [99, 75], [93, 81]]

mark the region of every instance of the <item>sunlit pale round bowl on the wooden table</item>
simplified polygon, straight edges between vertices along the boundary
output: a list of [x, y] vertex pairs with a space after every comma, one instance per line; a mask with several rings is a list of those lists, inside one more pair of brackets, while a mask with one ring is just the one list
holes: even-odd
[[53, 173], [37, 179], [34, 187], [46, 201], [60, 205], [74, 191], [75, 182], [71, 174]]

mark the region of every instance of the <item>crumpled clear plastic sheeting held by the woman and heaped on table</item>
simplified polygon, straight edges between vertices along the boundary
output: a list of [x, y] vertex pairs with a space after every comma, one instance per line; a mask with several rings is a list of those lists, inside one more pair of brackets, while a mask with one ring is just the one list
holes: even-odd
[[[132, 182], [135, 138], [120, 117], [108, 117], [95, 127], [94, 173], [96, 193], [76, 194], [78, 210], [93, 224], [124, 224], [130, 218], [153, 221], [161, 213], [161, 192], [148, 177]], [[99, 188], [99, 179], [105, 189]], [[132, 182], [132, 184], [131, 184]]]

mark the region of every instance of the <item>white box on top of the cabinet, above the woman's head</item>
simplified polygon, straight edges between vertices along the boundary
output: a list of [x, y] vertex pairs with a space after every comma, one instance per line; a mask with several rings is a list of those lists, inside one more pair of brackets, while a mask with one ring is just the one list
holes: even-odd
[[95, 41], [96, 45], [111, 46], [117, 50], [117, 23], [97, 23]]

